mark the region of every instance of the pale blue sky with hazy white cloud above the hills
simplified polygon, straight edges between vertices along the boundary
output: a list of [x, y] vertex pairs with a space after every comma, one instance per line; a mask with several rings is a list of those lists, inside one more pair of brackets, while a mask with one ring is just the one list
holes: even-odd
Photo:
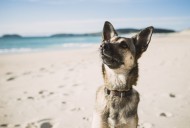
[[190, 28], [190, 0], [0, 0], [0, 35], [27, 36], [154, 26]]

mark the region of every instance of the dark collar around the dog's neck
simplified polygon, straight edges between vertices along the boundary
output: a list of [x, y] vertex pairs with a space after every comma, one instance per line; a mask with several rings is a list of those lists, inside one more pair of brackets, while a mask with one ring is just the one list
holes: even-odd
[[107, 95], [113, 95], [113, 96], [118, 96], [120, 98], [130, 96], [132, 94], [132, 90], [133, 90], [132, 87], [129, 90], [127, 90], [127, 91], [109, 90], [106, 87], [104, 88], [105, 94], [107, 94]]

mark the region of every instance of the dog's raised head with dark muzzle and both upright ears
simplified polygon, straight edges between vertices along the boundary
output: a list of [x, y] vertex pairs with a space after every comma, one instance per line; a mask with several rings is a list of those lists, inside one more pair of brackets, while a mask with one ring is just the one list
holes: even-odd
[[129, 70], [134, 67], [151, 40], [153, 27], [147, 27], [131, 38], [119, 37], [112, 24], [105, 22], [100, 53], [109, 68]]

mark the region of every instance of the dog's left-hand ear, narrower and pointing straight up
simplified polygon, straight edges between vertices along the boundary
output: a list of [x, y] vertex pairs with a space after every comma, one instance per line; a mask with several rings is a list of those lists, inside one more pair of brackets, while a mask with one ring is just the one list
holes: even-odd
[[102, 39], [103, 39], [103, 41], [105, 41], [105, 40], [108, 41], [112, 37], [117, 36], [117, 35], [118, 34], [115, 31], [113, 25], [110, 22], [106, 21], [104, 23], [104, 28], [103, 28], [103, 33], [102, 33]]

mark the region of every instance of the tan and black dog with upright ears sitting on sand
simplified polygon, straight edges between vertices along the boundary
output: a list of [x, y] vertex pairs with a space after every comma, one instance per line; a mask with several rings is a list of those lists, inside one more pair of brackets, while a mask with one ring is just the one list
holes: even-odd
[[132, 38], [119, 37], [108, 21], [103, 28], [100, 54], [104, 85], [96, 94], [92, 128], [137, 128], [139, 94], [138, 59], [146, 51], [153, 27]]

